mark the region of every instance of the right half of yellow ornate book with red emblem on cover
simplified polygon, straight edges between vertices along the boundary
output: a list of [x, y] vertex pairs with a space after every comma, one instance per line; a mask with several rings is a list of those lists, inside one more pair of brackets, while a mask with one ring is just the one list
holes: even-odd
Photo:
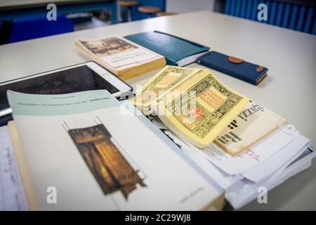
[[248, 101], [204, 70], [159, 98], [156, 113], [169, 129], [198, 148], [205, 148]]

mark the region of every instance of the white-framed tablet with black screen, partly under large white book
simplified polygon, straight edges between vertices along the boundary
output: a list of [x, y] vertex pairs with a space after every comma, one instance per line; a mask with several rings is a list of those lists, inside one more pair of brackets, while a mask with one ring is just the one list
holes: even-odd
[[0, 117], [11, 113], [7, 90], [27, 94], [68, 94], [98, 89], [106, 89], [115, 98], [133, 96], [131, 86], [97, 63], [87, 62], [0, 83]]

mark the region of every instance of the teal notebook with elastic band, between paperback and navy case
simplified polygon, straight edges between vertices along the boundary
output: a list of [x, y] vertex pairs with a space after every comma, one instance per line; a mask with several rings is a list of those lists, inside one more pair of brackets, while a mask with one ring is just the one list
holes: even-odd
[[159, 31], [131, 34], [124, 37], [166, 58], [168, 65], [194, 63], [209, 47]]

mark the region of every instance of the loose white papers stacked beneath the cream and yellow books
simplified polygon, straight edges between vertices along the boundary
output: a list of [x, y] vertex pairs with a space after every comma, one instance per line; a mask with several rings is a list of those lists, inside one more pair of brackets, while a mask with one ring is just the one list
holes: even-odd
[[262, 190], [270, 190], [310, 167], [315, 152], [308, 148], [310, 140], [287, 124], [254, 146], [232, 156], [212, 143], [200, 149], [183, 141], [157, 117], [150, 117], [184, 153], [225, 189], [225, 198], [240, 208], [258, 198]]

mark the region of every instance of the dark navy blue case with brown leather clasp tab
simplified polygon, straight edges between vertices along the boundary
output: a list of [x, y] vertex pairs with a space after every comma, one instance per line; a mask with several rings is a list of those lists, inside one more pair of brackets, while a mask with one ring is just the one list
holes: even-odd
[[249, 63], [217, 51], [209, 51], [209, 53], [199, 57], [197, 63], [255, 85], [267, 76], [268, 71], [268, 68], [261, 65]]

